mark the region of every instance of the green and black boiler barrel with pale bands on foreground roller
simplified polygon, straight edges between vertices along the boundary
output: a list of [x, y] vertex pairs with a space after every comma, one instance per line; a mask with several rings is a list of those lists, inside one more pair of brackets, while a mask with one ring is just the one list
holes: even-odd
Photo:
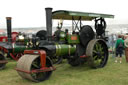
[[39, 45], [39, 48], [45, 50], [48, 56], [65, 56], [73, 55], [76, 52], [76, 45], [52, 44]]

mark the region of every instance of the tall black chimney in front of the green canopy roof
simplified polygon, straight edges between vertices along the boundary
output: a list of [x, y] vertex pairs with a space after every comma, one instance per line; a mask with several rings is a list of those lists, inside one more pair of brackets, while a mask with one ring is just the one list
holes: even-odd
[[52, 8], [45, 8], [46, 10], [46, 29], [48, 40], [51, 40], [52, 36]]

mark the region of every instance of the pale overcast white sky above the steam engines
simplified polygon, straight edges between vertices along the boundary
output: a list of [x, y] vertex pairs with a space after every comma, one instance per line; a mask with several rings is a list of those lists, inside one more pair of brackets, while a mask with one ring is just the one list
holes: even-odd
[[7, 16], [12, 27], [45, 26], [45, 7], [114, 14], [109, 24], [128, 24], [128, 0], [0, 0], [0, 28], [6, 27]]

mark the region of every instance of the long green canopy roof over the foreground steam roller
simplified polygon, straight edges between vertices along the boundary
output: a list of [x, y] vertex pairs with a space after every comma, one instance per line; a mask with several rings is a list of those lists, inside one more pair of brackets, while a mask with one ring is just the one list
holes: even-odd
[[[73, 18], [72, 18], [73, 17]], [[89, 12], [77, 12], [77, 11], [67, 11], [67, 10], [58, 10], [52, 12], [52, 19], [64, 19], [64, 20], [93, 20], [98, 17], [102, 18], [114, 18], [114, 15], [110, 14], [100, 14], [100, 13], [89, 13]]]

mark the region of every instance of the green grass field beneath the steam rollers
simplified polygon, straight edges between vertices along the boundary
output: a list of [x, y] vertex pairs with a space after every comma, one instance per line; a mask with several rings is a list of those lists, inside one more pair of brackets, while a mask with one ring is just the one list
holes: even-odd
[[115, 63], [109, 56], [107, 65], [101, 69], [91, 69], [87, 65], [72, 67], [66, 62], [59, 64], [49, 80], [35, 83], [22, 79], [14, 70], [16, 62], [9, 60], [0, 71], [0, 85], [128, 85], [128, 63]]

